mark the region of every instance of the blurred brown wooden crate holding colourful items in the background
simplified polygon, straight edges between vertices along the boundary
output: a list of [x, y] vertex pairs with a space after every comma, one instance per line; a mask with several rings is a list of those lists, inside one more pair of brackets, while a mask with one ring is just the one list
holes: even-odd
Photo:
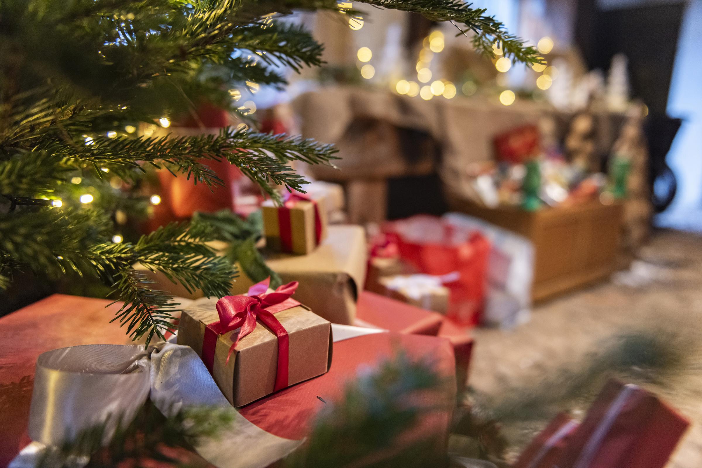
[[593, 201], [526, 212], [517, 207], [489, 209], [459, 201], [453, 203], [453, 209], [534, 242], [534, 301], [601, 280], [616, 268], [623, 219], [620, 203]]

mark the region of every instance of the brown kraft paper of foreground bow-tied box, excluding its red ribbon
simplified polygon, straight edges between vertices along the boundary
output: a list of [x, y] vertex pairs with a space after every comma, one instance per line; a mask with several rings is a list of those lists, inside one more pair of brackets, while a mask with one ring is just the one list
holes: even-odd
[[[192, 347], [200, 357], [206, 324], [219, 319], [217, 301], [201, 298], [180, 317], [178, 344]], [[326, 373], [331, 366], [331, 324], [305, 305], [282, 310], [275, 317], [289, 335], [289, 385]], [[212, 377], [232, 406], [244, 406], [273, 392], [278, 340], [267, 326], [257, 323], [239, 340], [227, 363], [237, 333], [239, 329], [218, 336]]]

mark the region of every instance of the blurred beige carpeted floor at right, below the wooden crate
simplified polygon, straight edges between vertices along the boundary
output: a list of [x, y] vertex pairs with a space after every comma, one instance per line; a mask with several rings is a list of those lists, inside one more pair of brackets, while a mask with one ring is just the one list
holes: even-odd
[[[644, 387], [692, 422], [668, 467], [698, 468], [702, 466], [702, 237], [658, 232], [642, 259], [647, 263], [640, 264], [636, 287], [621, 284], [630, 276], [610, 280], [539, 305], [531, 321], [515, 331], [477, 331], [470, 384], [492, 396], [515, 387], [534, 388], [534, 383], [559, 369], [586, 366], [590, 353], [601, 350], [607, 338], [618, 333], [646, 329], [656, 331], [656, 336], [673, 336], [670, 345], [684, 347], [683, 364], [663, 382]], [[543, 390], [557, 389], [547, 385]], [[581, 415], [587, 402], [574, 401], [571, 407]], [[545, 422], [522, 423], [508, 435], [519, 445]]]

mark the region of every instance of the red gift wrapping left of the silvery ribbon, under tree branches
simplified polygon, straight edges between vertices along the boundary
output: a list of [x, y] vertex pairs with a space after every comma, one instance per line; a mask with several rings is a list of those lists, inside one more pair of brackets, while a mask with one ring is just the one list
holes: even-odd
[[0, 318], [0, 467], [29, 440], [25, 435], [34, 364], [57, 347], [126, 344], [126, 330], [110, 320], [119, 303], [53, 294]]

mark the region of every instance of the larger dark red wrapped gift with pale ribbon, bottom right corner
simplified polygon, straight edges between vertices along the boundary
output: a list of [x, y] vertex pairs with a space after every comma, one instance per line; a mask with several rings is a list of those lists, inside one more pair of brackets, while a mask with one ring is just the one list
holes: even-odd
[[556, 466], [662, 468], [688, 426], [654, 394], [609, 380]]

